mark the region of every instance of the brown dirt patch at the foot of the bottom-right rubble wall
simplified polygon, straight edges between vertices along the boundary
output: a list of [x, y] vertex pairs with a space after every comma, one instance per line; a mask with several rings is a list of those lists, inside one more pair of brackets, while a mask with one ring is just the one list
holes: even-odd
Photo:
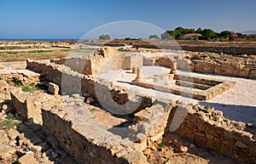
[[[148, 162], [151, 164], [241, 164], [229, 156], [197, 144], [192, 140], [170, 133], [164, 136], [164, 147], [149, 151]], [[155, 145], [157, 147], [157, 144]]]

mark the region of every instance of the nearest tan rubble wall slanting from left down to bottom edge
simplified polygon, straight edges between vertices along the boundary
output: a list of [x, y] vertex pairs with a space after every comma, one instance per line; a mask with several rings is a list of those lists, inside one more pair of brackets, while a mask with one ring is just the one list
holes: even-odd
[[[79, 94], [73, 94], [71, 98], [69, 98], [69, 96], [54, 96], [47, 93], [35, 94], [38, 95], [38, 97], [21, 91], [12, 93], [15, 110], [19, 113], [23, 110], [26, 110], [26, 113], [37, 113], [37, 110], [40, 110], [40, 120], [43, 121], [41, 123], [43, 123], [44, 133], [46, 133], [47, 136], [54, 136], [58, 139], [55, 141], [50, 139], [55, 149], [60, 145], [61, 148], [66, 150], [70, 156], [73, 156], [73, 158], [81, 164], [105, 162], [131, 164], [147, 163], [143, 152], [138, 150], [142, 147], [140, 144], [125, 144], [125, 142], [124, 145], [105, 143], [106, 139], [98, 138], [99, 132], [108, 139], [113, 138], [113, 140], [118, 140], [119, 138], [115, 137], [114, 134], [110, 135], [108, 129], [97, 127], [98, 124], [96, 123], [86, 125], [84, 130], [89, 133], [84, 134], [81, 128], [81, 125], [84, 126], [83, 120], [79, 125], [79, 119], [73, 117], [73, 119], [70, 119], [70, 116], [73, 116], [72, 112], [83, 113], [84, 110], [86, 110], [86, 108], [83, 107], [84, 99], [80, 97]], [[26, 103], [24, 103], [27, 99], [32, 99], [32, 103], [36, 104], [38, 107], [27, 107]], [[63, 100], [65, 100], [65, 103], [63, 103]], [[69, 104], [67, 102], [69, 102]], [[72, 108], [72, 111], [68, 111], [68, 108]], [[34, 123], [38, 123], [35, 116], [22, 116], [32, 119]], [[80, 119], [86, 120], [84, 117], [80, 117]]]

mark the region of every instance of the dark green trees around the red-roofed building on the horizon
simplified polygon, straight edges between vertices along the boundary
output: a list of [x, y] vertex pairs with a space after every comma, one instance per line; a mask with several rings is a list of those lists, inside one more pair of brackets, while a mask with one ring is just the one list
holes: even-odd
[[183, 28], [181, 26], [178, 26], [175, 30], [168, 30], [160, 35], [158, 37], [157, 35], [150, 35], [149, 39], [154, 40], [154, 39], [162, 39], [162, 40], [170, 40], [170, 39], [183, 39], [183, 36], [189, 33], [197, 33], [201, 34], [202, 37], [200, 39], [203, 40], [234, 40], [236, 38], [256, 38], [256, 35], [244, 35], [239, 32], [233, 32], [233, 31], [221, 31], [221, 32], [215, 32], [212, 31], [212, 29], [201, 29], [198, 28], [197, 30], [195, 29], [188, 29], [188, 28]]

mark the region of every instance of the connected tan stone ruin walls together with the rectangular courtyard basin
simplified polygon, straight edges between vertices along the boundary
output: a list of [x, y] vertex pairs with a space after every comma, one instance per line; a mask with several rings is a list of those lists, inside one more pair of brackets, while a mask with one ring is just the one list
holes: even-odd
[[[52, 136], [52, 146], [65, 150], [78, 163], [146, 164], [150, 153], [160, 150], [163, 141], [172, 141], [173, 135], [191, 139], [236, 161], [255, 163], [253, 125], [230, 121], [213, 107], [130, 92], [99, 76], [125, 70], [124, 76], [132, 76], [126, 82], [131, 86], [201, 100], [212, 99], [236, 85], [179, 75], [177, 70], [191, 66], [188, 59], [151, 55], [105, 47], [89, 56], [27, 59], [27, 69], [47, 81], [48, 91], [24, 93], [15, 89], [10, 91], [11, 99], [20, 116], [41, 126], [46, 135]], [[166, 66], [167, 70], [144, 76], [145, 65]], [[178, 147], [182, 152], [195, 149], [194, 144], [189, 145]]]

